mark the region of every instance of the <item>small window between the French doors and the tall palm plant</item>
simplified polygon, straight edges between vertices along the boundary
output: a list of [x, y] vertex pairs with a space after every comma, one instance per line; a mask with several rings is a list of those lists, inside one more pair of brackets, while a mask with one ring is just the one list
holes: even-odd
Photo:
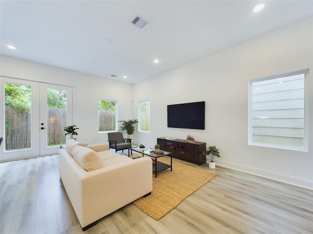
[[117, 131], [117, 101], [98, 100], [99, 132]]

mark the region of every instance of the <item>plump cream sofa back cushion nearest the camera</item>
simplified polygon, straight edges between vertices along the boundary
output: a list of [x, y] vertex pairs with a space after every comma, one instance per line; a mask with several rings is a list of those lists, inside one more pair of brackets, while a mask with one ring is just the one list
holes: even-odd
[[100, 156], [84, 146], [75, 146], [73, 148], [73, 157], [88, 172], [104, 167]]

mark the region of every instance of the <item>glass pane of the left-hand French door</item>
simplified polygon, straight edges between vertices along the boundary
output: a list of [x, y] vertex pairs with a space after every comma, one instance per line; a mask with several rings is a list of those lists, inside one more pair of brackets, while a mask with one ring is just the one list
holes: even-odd
[[4, 83], [5, 151], [31, 148], [31, 86]]

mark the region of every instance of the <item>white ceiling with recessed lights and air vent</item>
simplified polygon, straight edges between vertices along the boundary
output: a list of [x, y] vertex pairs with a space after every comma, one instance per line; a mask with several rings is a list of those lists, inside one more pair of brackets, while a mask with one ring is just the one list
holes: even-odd
[[136, 83], [310, 17], [313, 1], [1, 0], [0, 14], [1, 55]]

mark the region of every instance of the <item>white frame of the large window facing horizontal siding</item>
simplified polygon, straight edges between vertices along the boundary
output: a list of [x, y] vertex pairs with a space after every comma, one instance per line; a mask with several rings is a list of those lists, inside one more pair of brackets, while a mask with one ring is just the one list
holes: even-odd
[[[253, 132], [252, 132], [252, 127], [253, 127], [252, 85], [253, 83], [259, 82], [259, 81], [277, 79], [277, 78], [285, 78], [285, 77], [290, 77], [290, 76], [295, 76], [295, 75], [300, 75], [300, 74], [304, 75], [303, 145], [292, 146], [292, 145], [287, 145], [287, 144], [286, 145], [270, 144], [270, 143], [262, 143], [262, 142], [253, 141], [252, 140], [252, 136], [253, 136]], [[264, 78], [255, 78], [255, 79], [250, 79], [248, 81], [248, 145], [309, 152], [309, 69], [284, 73], [280, 75], [268, 76]]]

